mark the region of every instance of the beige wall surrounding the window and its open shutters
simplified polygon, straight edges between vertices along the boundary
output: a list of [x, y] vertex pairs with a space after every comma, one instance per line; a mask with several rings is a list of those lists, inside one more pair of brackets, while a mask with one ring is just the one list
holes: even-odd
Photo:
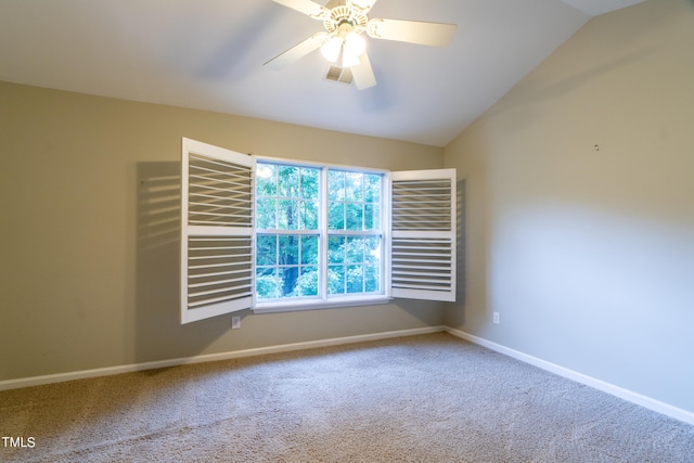
[[440, 168], [444, 151], [0, 82], [0, 381], [439, 325], [439, 304], [179, 324], [181, 138], [258, 155]]

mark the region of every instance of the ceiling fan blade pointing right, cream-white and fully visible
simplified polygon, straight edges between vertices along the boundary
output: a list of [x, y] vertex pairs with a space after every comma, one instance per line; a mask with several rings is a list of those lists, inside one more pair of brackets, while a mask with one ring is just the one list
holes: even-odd
[[451, 42], [458, 26], [420, 21], [371, 20], [367, 34], [374, 39], [397, 40], [424, 46], [444, 47]]

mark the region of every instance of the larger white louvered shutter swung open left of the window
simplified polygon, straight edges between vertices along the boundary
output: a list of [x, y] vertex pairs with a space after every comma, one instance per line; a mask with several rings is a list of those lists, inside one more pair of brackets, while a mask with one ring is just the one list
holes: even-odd
[[253, 158], [183, 139], [181, 323], [253, 305]]

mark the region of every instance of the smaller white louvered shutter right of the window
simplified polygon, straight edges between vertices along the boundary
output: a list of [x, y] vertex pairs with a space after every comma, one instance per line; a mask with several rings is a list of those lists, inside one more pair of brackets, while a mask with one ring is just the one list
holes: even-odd
[[394, 297], [455, 300], [455, 169], [390, 173]]

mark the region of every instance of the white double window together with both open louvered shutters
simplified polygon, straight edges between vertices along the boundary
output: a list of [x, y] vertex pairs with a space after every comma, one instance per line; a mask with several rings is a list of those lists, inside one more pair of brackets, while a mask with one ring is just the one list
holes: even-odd
[[454, 300], [454, 170], [254, 159], [183, 139], [181, 322]]

